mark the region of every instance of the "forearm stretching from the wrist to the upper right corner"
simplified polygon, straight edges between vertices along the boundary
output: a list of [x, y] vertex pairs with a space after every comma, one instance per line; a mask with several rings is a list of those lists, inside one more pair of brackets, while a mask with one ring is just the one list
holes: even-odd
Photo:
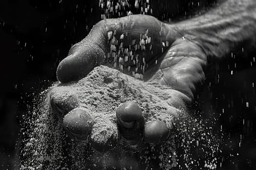
[[[208, 13], [175, 24], [181, 36], [199, 45], [208, 57], [253, 47], [256, 40], [256, 1], [226, 0]], [[240, 47], [243, 44], [244, 47]]]

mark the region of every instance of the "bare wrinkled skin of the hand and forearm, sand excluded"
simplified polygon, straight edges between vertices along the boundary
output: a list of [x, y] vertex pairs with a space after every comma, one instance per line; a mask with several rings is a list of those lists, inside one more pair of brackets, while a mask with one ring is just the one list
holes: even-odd
[[[203, 85], [206, 78], [204, 70], [208, 62], [221, 59], [231, 52], [241, 51], [241, 45], [244, 51], [253, 47], [256, 37], [256, 1], [226, 0], [202, 16], [174, 24], [163, 23], [146, 15], [101, 20], [59, 63], [59, 82], [79, 80], [94, 67], [106, 64], [111, 43], [109, 33], [117, 38], [125, 35], [122, 40], [124, 48], [128, 48], [133, 40], [139, 42], [141, 34], [147, 33], [151, 37], [154, 52], [152, 53], [149, 47], [140, 51], [144, 52], [144, 59], [148, 63], [144, 81], [168, 85], [168, 93], [172, 94], [172, 100], [167, 99], [168, 104], [185, 108], [186, 104], [194, 101], [195, 94]], [[128, 66], [134, 65], [128, 63]], [[124, 72], [129, 74], [129, 71]], [[55, 107], [58, 101], [52, 99], [51, 104]], [[60, 107], [59, 110], [65, 110]], [[127, 114], [129, 112], [125, 109], [117, 111], [117, 117], [125, 118], [123, 120], [128, 122], [125, 124], [119, 121], [118, 124], [129, 129], [129, 122], [133, 120], [128, 119]], [[137, 119], [138, 115], [133, 116]], [[168, 136], [168, 131], [171, 131], [166, 129], [162, 122], [141, 126], [138, 130], [143, 132], [147, 142], [153, 144], [159, 143], [159, 137], [155, 136], [161, 134], [164, 138]]]

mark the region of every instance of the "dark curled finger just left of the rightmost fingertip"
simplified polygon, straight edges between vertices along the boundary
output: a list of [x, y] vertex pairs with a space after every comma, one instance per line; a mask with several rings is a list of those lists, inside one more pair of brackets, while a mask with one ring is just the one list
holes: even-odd
[[120, 133], [126, 139], [135, 139], [140, 136], [144, 127], [145, 118], [134, 102], [125, 102], [117, 109], [117, 121]]

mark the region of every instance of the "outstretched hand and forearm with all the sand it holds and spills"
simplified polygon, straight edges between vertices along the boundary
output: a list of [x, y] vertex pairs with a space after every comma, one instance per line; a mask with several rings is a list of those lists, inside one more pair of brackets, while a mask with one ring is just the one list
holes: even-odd
[[[106, 163], [108, 156], [113, 164], [118, 157], [115, 166], [122, 167], [123, 159], [140, 155], [138, 160], [151, 166], [148, 158], [154, 154], [165, 169], [178, 165], [178, 147], [187, 169], [215, 169], [218, 138], [213, 138], [214, 130], [205, 131], [215, 121], [194, 118], [197, 113], [187, 106], [204, 83], [208, 59], [221, 59], [242, 42], [255, 42], [255, 7], [253, 0], [227, 0], [202, 16], [174, 24], [147, 15], [98, 22], [60, 62], [61, 84], [46, 90], [39, 101], [42, 107], [33, 111], [38, 116], [30, 124], [33, 131], [25, 141], [22, 153], [27, 159], [21, 169], [100, 169], [112, 166]], [[120, 73], [113, 74], [114, 68]], [[206, 162], [191, 160], [192, 143], [204, 146], [203, 153], [211, 151]], [[133, 157], [127, 151], [138, 152]]]

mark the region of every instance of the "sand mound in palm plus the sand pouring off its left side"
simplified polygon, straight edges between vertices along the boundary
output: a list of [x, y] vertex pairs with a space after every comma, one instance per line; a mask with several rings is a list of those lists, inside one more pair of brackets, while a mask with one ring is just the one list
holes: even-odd
[[[69, 169], [80, 169], [94, 166], [94, 163], [96, 166], [97, 161], [92, 160], [95, 155], [101, 157], [100, 159], [108, 157], [108, 162], [111, 162], [109, 155], [112, 157], [113, 154], [116, 155], [115, 150], [121, 151], [118, 155], [119, 162], [125, 162], [129, 153], [122, 151], [121, 148], [126, 147], [127, 150], [129, 145], [137, 144], [136, 141], [129, 143], [120, 137], [116, 120], [118, 106], [123, 102], [133, 101], [140, 107], [146, 121], [158, 119], [165, 121], [171, 128], [171, 122], [178, 110], [163, 102], [162, 98], [166, 97], [166, 94], [161, 92], [163, 90], [106, 66], [95, 68], [78, 82], [53, 85], [43, 92], [39, 103], [41, 108], [35, 107], [33, 111], [34, 119], [28, 120], [28, 126], [30, 126], [28, 128], [33, 128], [33, 131], [29, 134], [29, 140], [24, 141], [26, 143], [21, 152], [21, 169], [65, 170], [68, 167]], [[65, 99], [70, 96], [75, 97], [79, 102], [78, 108], [86, 109], [95, 121], [91, 138], [104, 143], [107, 142], [104, 136], [107, 138], [112, 135], [114, 139], [118, 140], [118, 146], [114, 151], [98, 153], [87, 144], [87, 141], [70, 139], [65, 133], [59, 115], [52, 113], [49, 103], [52, 93], [56, 93], [57, 96], [61, 93], [63, 102], [67, 102]], [[175, 151], [174, 136], [170, 137], [170, 141], [166, 145], [169, 146], [169, 151]], [[133, 147], [136, 148], [136, 146]], [[167, 155], [166, 159], [168, 158], [168, 160], [165, 162], [169, 161], [169, 156], [173, 153], [170, 152]], [[162, 154], [161, 159], [163, 158]], [[138, 159], [142, 160], [142, 158]], [[176, 156], [172, 156], [170, 160], [172, 161], [169, 163], [173, 163], [175, 166]], [[115, 162], [114, 158], [113, 162]], [[102, 164], [102, 161], [98, 163]]]

